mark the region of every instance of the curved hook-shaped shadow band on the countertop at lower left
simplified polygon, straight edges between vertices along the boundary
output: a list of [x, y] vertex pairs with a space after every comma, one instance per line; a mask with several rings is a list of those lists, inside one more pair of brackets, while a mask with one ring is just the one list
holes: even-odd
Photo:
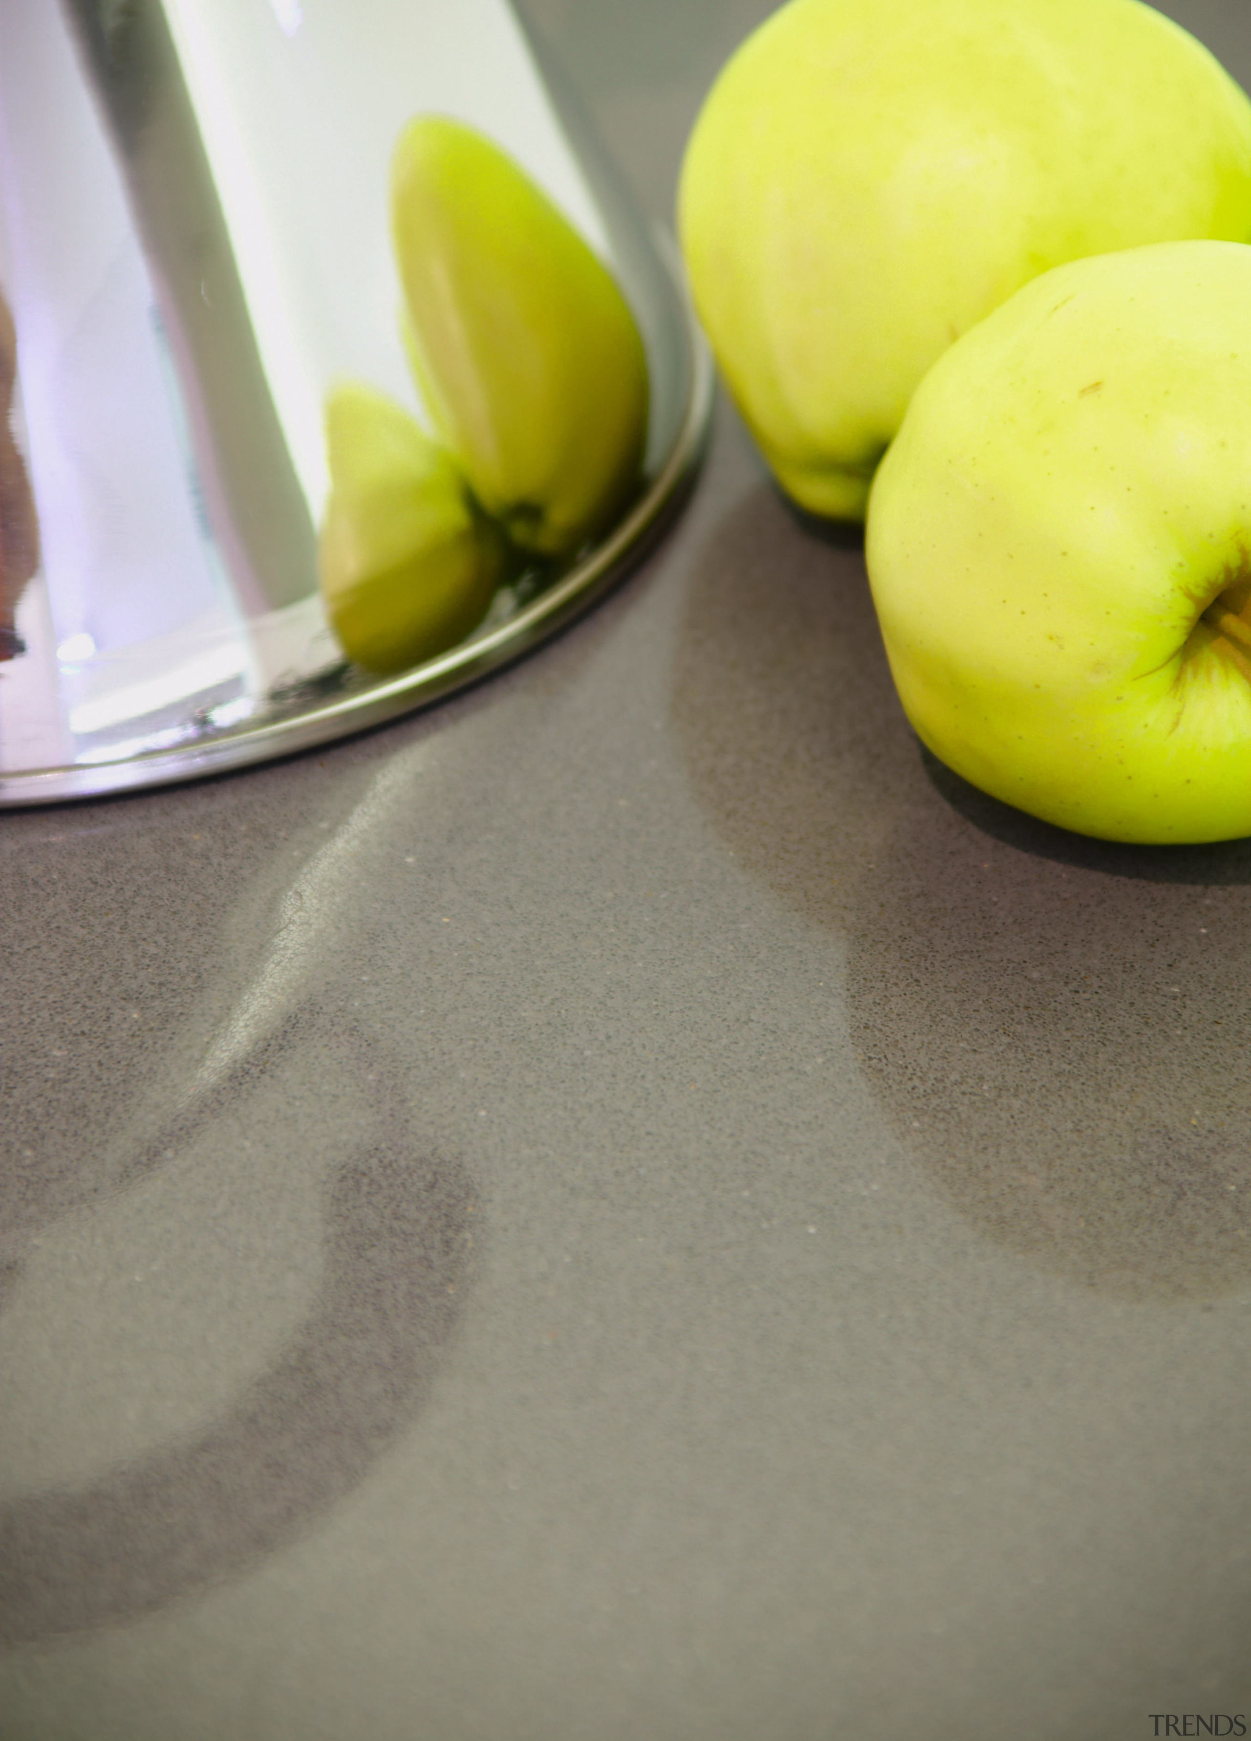
[[[247, 1570], [331, 1509], [421, 1410], [459, 1316], [473, 1210], [465, 1168], [421, 1154], [400, 1095], [357, 1029], [287, 1022], [193, 1114], [172, 1121], [137, 1182], [292, 1046], [334, 1050], [371, 1083], [378, 1116], [325, 1191], [322, 1283], [268, 1372], [200, 1436], [77, 1490], [0, 1506], [0, 1642], [110, 1626]], [[9, 1260], [12, 1288], [21, 1259]]]

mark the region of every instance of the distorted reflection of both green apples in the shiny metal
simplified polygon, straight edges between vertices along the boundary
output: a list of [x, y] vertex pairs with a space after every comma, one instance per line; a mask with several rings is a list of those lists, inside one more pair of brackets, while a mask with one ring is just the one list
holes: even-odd
[[391, 239], [433, 439], [339, 381], [318, 540], [339, 646], [383, 674], [465, 641], [492, 601], [496, 618], [515, 609], [609, 533], [642, 484], [649, 399], [612, 272], [478, 129], [418, 115], [402, 131]]

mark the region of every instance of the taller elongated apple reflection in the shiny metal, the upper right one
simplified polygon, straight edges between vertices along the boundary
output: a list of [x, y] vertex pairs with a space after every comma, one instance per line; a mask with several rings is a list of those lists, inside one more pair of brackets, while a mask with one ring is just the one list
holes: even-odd
[[518, 548], [574, 554], [639, 487], [647, 366], [621, 291], [510, 157], [437, 115], [400, 136], [391, 225], [435, 428]]

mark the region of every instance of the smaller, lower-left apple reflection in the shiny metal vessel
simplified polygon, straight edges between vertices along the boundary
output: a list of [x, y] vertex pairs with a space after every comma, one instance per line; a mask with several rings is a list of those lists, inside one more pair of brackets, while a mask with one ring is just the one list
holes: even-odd
[[456, 646], [506, 578], [499, 531], [452, 460], [383, 393], [338, 387], [325, 444], [318, 568], [343, 651], [367, 670], [397, 672]]

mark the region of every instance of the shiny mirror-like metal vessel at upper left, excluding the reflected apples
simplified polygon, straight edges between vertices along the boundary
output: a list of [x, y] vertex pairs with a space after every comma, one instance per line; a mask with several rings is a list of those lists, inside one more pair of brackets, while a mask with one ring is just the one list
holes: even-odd
[[[386, 209], [425, 111], [487, 134], [609, 265], [647, 446], [607, 536], [379, 677], [318, 594], [324, 400], [360, 380], [430, 425]], [[663, 244], [505, 0], [0, 0], [0, 804], [254, 763], [482, 677], [619, 575], [706, 421]]]

